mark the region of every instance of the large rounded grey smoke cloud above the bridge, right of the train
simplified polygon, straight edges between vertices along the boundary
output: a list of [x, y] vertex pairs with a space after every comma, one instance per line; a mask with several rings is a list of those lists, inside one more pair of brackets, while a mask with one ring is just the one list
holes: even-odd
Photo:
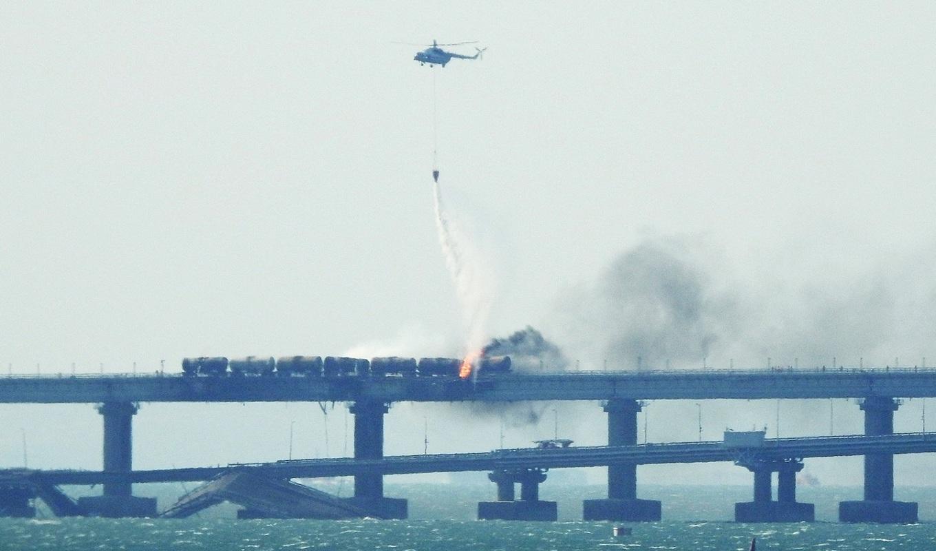
[[592, 368], [701, 366], [735, 334], [737, 299], [714, 284], [695, 245], [644, 242], [618, 257], [593, 288], [566, 297], [566, 334]]

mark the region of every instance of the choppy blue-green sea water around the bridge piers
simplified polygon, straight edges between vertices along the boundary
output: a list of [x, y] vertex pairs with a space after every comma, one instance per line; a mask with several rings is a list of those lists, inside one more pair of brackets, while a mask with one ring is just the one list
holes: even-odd
[[641, 497], [663, 501], [666, 520], [627, 524], [632, 534], [619, 538], [612, 528], [622, 523], [572, 520], [581, 515], [579, 498], [600, 490], [555, 491], [561, 520], [554, 523], [472, 520], [476, 500], [490, 499], [492, 487], [454, 484], [388, 484], [388, 496], [410, 499], [411, 519], [398, 521], [236, 520], [230, 505], [187, 519], [0, 519], [0, 550], [714, 551], [746, 550], [753, 537], [761, 551], [936, 550], [936, 489], [899, 488], [898, 499], [920, 501], [923, 522], [916, 525], [833, 522], [837, 500], [860, 498], [860, 488], [800, 491], [800, 500], [816, 503], [818, 522], [739, 524], [730, 522], [733, 500], [750, 499], [750, 488], [641, 486]]

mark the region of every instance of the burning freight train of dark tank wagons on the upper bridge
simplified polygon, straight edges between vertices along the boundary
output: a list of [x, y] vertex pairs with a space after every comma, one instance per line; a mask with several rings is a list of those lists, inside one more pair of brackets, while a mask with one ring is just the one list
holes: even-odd
[[[462, 360], [457, 358], [346, 358], [343, 356], [247, 356], [185, 358], [186, 377], [459, 377]], [[488, 356], [475, 360], [478, 374], [510, 373], [510, 356]]]

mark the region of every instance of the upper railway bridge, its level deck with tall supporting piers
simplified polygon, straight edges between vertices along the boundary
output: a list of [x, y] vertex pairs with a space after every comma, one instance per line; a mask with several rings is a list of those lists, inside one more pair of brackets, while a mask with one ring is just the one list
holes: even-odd
[[[835, 369], [835, 370], [740, 370], [665, 372], [565, 372], [512, 373], [469, 380], [444, 377], [183, 377], [156, 373], [147, 376], [59, 376], [7, 377], [0, 379], [0, 403], [88, 403], [98, 404], [104, 424], [104, 495], [81, 503], [88, 514], [110, 516], [151, 515], [152, 500], [134, 497], [137, 480], [132, 470], [132, 419], [140, 402], [279, 402], [341, 401], [351, 404], [354, 414], [354, 461], [378, 461], [384, 465], [384, 415], [391, 402], [455, 401], [536, 401], [591, 400], [607, 412], [608, 449], [636, 446], [636, 415], [641, 400], [666, 399], [766, 399], [766, 398], [857, 398], [865, 414], [865, 435], [893, 434], [893, 418], [899, 398], [936, 395], [933, 369]], [[771, 440], [772, 441], [772, 440]], [[893, 454], [897, 440], [867, 448], [865, 455], [864, 499], [842, 502], [843, 521], [914, 522], [916, 504], [893, 499]], [[659, 444], [653, 444], [659, 445]], [[584, 450], [584, 449], [583, 449]], [[702, 452], [703, 448], [696, 448]], [[929, 451], [929, 450], [921, 450]], [[567, 452], [567, 450], [563, 450]], [[578, 452], [575, 452], [578, 454]], [[647, 452], [644, 452], [646, 454]], [[910, 452], [913, 453], [913, 452]], [[702, 456], [702, 455], [699, 455]], [[789, 481], [795, 478], [797, 462], [791, 455], [782, 459], [758, 459], [745, 466], [753, 471], [755, 497], [739, 518], [787, 520], [802, 517], [790, 498]], [[724, 459], [722, 459], [724, 460]], [[387, 463], [386, 465], [389, 465]], [[604, 463], [608, 466], [607, 499], [594, 499], [584, 506], [587, 519], [655, 520], [660, 516], [658, 501], [637, 499], [636, 467], [642, 464], [631, 456]], [[362, 463], [358, 465], [363, 465]], [[268, 468], [264, 468], [268, 469]], [[269, 468], [272, 469], [272, 468]], [[268, 470], [269, 470], [268, 469]], [[383, 469], [383, 468], [382, 468]], [[487, 469], [487, 467], [485, 468]], [[531, 469], [494, 469], [491, 479], [499, 495], [508, 497], [515, 483], [521, 484], [521, 499], [490, 510], [506, 518], [539, 517], [524, 502], [534, 498], [541, 476]], [[379, 470], [379, 469], [378, 469]], [[151, 472], [151, 471], [136, 471]], [[782, 489], [779, 500], [769, 496], [770, 473], [778, 472]], [[378, 516], [405, 514], [405, 502], [389, 499], [383, 492], [383, 475], [388, 471], [361, 469], [355, 477], [354, 506]], [[765, 474], [766, 473], [766, 474]], [[101, 476], [104, 476], [103, 474]], [[766, 484], [766, 485], [765, 485]], [[510, 491], [508, 492], [508, 485]], [[765, 488], [767, 488], [765, 490]], [[501, 491], [503, 490], [503, 494]], [[766, 493], [765, 493], [766, 492]], [[0, 491], [0, 502], [6, 494]], [[22, 495], [16, 494], [16, 495]], [[13, 499], [10, 494], [9, 499]], [[767, 498], [767, 499], [765, 499]], [[9, 500], [7, 499], [7, 500]], [[19, 498], [17, 498], [19, 499]], [[19, 502], [19, 501], [17, 501]], [[402, 502], [402, 504], [401, 504]], [[757, 505], [758, 503], [777, 505]], [[797, 512], [799, 511], [799, 512]], [[738, 513], [738, 512], [736, 512]], [[548, 511], [546, 512], [548, 514]]]

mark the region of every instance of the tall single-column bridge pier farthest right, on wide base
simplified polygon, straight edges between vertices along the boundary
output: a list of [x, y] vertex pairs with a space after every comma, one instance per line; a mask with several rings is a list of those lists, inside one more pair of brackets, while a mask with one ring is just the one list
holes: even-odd
[[[865, 412], [865, 435], [894, 434], [894, 398], [871, 396], [861, 403]], [[894, 500], [894, 455], [865, 455], [865, 499], [839, 503], [841, 522], [913, 523], [917, 504]]]

